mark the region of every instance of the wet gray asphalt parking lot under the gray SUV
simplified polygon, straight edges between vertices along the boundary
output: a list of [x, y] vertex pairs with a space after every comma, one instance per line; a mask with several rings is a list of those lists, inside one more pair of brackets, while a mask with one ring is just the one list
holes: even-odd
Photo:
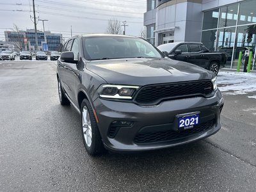
[[[0, 61], [0, 191], [255, 191], [256, 99], [227, 95], [221, 130], [140, 154], [90, 157], [58, 100], [56, 61]], [[256, 95], [256, 93], [250, 93]]]

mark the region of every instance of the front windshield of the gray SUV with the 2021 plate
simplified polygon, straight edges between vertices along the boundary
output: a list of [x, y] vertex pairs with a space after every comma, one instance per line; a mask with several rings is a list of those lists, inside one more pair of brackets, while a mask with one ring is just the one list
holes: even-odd
[[163, 58], [153, 45], [141, 38], [95, 36], [83, 38], [86, 60], [119, 58]]

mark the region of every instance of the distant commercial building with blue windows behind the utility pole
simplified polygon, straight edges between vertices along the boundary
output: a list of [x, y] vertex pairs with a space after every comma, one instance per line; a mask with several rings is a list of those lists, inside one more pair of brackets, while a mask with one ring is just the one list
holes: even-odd
[[[26, 31], [4, 31], [6, 42], [15, 45], [15, 50], [35, 51], [35, 30], [27, 29]], [[62, 35], [51, 33], [51, 31], [37, 31], [38, 50], [44, 51], [43, 46], [46, 44], [48, 51], [56, 51], [62, 43]]]

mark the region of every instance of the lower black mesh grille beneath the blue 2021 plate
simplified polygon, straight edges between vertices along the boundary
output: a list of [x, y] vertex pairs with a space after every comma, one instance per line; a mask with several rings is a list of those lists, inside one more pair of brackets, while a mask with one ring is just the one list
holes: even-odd
[[155, 142], [161, 142], [161, 141], [172, 141], [177, 140], [181, 138], [186, 138], [189, 136], [193, 136], [195, 134], [202, 134], [205, 131], [208, 131], [209, 129], [212, 129], [214, 125], [215, 120], [209, 120], [205, 123], [202, 123], [200, 125], [197, 125], [193, 129], [187, 129], [184, 131], [158, 131], [158, 132], [148, 132], [140, 134], [138, 133], [135, 138], [134, 142], [138, 144], [143, 143], [155, 143]]

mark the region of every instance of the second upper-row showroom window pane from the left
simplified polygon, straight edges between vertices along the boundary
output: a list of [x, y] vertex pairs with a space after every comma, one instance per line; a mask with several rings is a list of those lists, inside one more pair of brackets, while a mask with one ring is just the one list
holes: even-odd
[[220, 8], [219, 28], [236, 26], [238, 4]]

